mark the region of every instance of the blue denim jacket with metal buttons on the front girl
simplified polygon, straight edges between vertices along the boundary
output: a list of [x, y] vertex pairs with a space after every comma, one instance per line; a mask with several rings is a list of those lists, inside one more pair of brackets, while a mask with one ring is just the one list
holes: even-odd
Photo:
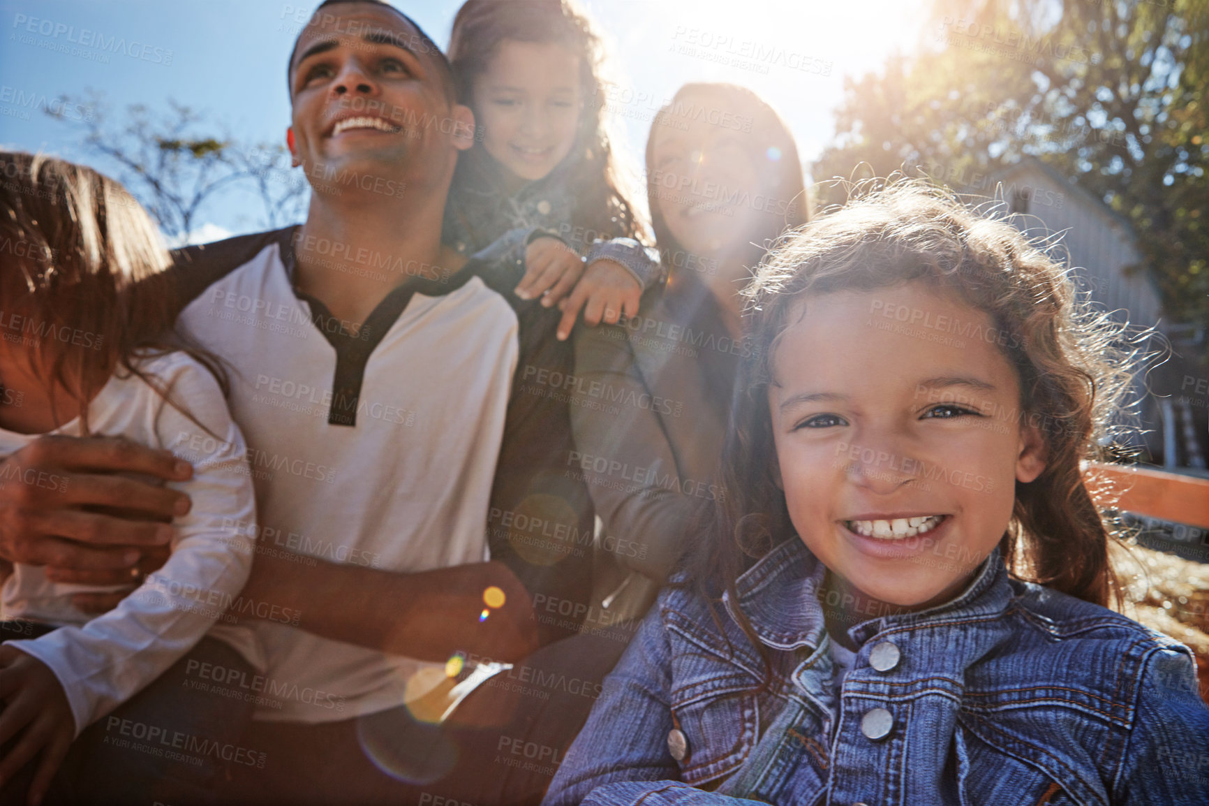
[[825, 570], [781, 543], [717, 620], [665, 589], [544, 802], [1209, 804], [1209, 708], [1182, 644], [1010, 578], [996, 549], [956, 599], [851, 627], [837, 701]]

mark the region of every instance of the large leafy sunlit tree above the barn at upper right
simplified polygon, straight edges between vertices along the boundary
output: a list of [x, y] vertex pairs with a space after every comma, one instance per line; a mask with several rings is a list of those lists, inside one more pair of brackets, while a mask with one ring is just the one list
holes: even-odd
[[[931, 41], [845, 80], [815, 178], [956, 190], [1031, 154], [1126, 215], [1169, 318], [1209, 324], [1209, 0], [936, 0]], [[854, 174], [854, 166], [861, 166]], [[825, 186], [825, 202], [841, 202]]]

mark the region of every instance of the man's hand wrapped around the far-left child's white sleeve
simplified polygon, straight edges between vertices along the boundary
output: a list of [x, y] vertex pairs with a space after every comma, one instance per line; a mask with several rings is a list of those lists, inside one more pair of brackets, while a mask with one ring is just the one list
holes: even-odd
[[190, 501], [123, 472], [183, 482], [193, 468], [111, 437], [39, 437], [0, 462], [0, 560], [52, 566], [60, 582], [129, 582]]

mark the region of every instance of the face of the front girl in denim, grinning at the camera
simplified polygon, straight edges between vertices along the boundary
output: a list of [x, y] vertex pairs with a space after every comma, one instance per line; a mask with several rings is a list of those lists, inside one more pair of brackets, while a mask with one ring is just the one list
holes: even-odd
[[808, 295], [789, 321], [769, 408], [798, 535], [873, 600], [951, 598], [1045, 470], [994, 322], [921, 282]]

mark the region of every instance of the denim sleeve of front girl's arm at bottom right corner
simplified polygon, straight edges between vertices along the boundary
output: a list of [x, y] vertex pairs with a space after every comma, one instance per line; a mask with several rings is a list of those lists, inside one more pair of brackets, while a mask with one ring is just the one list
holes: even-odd
[[1209, 804], [1209, 707], [1187, 650], [1156, 649], [1138, 675], [1133, 730], [1122, 744], [1112, 802]]

